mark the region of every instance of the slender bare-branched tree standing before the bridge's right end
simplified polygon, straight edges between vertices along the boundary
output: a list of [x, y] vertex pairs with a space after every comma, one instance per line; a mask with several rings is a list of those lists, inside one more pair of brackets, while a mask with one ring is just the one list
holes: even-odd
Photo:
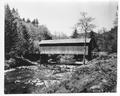
[[85, 55], [86, 55], [86, 35], [87, 32], [90, 32], [95, 28], [95, 25], [91, 22], [94, 20], [92, 17], [88, 17], [87, 13], [81, 12], [81, 18], [79, 19], [79, 22], [77, 23], [78, 28], [85, 33], [85, 43], [84, 43], [84, 55], [83, 55], [83, 63], [85, 64]]

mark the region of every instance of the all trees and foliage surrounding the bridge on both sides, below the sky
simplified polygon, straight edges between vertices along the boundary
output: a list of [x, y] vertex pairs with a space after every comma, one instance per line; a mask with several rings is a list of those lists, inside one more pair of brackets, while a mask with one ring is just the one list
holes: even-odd
[[[81, 13], [82, 18], [79, 19], [71, 38], [90, 37], [97, 42], [99, 51], [117, 52], [117, 14], [115, 18], [115, 26], [109, 30], [103, 30], [103, 33], [93, 32], [95, 27], [92, 24], [94, 18], [87, 17], [86, 13]], [[78, 33], [80, 29], [85, 33]], [[86, 35], [85, 35], [86, 34]], [[69, 38], [65, 34], [60, 36], [52, 35], [48, 28], [39, 25], [38, 19], [31, 21], [29, 18], [20, 18], [18, 11], [14, 8], [11, 10], [9, 5], [5, 5], [5, 58], [22, 56], [26, 53], [35, 54], [39, 52], [37, 42], [42, 39], [63, 39]]]

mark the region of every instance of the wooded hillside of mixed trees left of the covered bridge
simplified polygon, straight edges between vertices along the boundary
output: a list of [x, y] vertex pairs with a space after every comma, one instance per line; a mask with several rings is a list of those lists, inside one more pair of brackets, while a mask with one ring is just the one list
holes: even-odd
[[39, 25], [38, 19], [20, 18], [17, 10], [11, 10], [5, 5], [5, 58], [23, 56], [26, 53], [36, 53], [36, 41], [52, 39], [48, 28]]

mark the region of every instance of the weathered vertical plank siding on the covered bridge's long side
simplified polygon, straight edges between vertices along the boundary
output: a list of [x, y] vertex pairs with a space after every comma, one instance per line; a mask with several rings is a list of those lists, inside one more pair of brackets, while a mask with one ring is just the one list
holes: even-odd
[[[40, 46], [40, 54], [84, 54], [84, 46]], [[86, 46], [88, 55], [88, 46]]]

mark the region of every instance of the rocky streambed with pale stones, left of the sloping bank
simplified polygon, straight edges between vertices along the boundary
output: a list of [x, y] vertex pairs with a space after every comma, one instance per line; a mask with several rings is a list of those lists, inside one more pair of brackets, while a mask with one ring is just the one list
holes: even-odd
[[[5, 93], [35, 93], [71, 78], [76, 66], [34, 65], [5, 70]], [[41, 91], [42, 92], [42, 91]]]

